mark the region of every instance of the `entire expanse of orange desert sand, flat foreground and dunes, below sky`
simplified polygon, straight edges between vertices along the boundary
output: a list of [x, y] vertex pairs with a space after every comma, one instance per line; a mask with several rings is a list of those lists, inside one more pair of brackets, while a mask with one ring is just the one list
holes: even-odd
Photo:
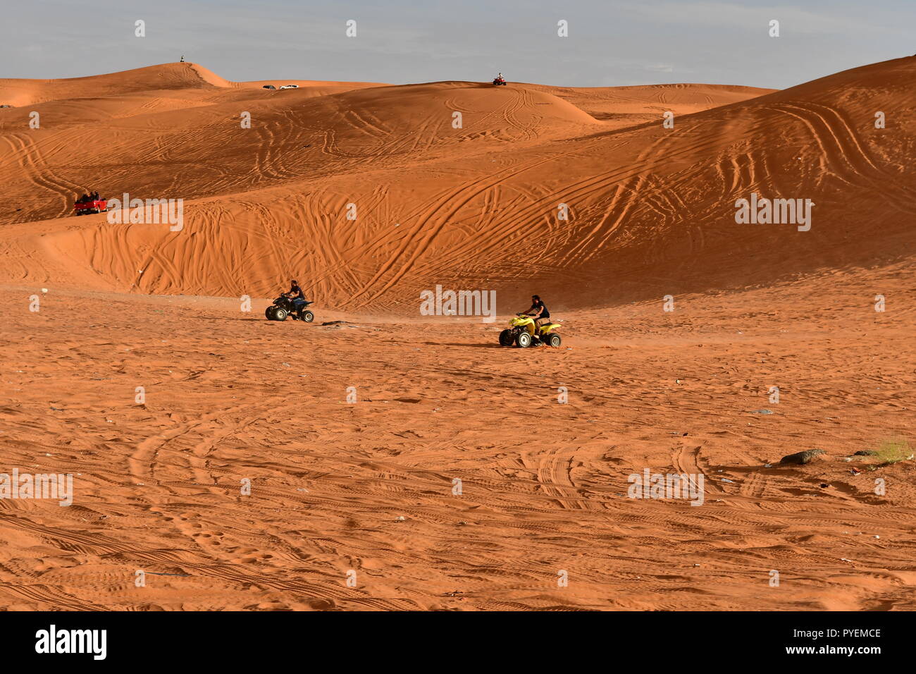
[[[916, 58], [267, 83], [0, 80], [0, 472], [73, 481], [0, 500], [0, 604], [916, 608]], [[810, 228], [736, 222], [752, 194]], [[265, 319], [291, 278], [312, 324]], [[420, 315], [437, 285], [496, 322]], [[531, 293], [562, 346], [500, 348]]]

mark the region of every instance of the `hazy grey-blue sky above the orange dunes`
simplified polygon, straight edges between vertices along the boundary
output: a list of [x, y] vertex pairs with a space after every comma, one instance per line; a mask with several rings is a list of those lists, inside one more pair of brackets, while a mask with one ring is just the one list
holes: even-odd
[[[31, 0], [3, 12], [0, 78], [82, 77], [183, 55], [234, 81], [503, 72], [558, 86], [783, 89], [916, 53], [916, 0]], [[135, 36], [137, 20], [146, 37]]]

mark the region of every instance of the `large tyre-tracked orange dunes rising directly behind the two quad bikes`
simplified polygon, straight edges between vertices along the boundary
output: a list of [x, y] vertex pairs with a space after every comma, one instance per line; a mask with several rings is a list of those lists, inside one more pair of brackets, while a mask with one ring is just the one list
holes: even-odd
[[[7, 223], [67, 215], [82, 185], [188, 202], [180, 234], [95, 215], [38, 246], [27, 227], [17, 245], [47, 261], [7, 279], [49, 278], [65, 256], [100, 288], [264, 295], [308, 271], [331, 305], [412, 312], [437, 282], [533, 283], [573, 308], [870, 264], [912, 236], [914, 62], [676, 116], [672, 129], [605, 130], [542, 87], [430, 83], [6, 130], [7, 203], [22, 204]], [[878, 109], [892, 127], [874, 128]], [[25, 123], [6, 111], [5, 129], [16, 115]], [[81, 157], [77, 138], [105, 149]], [[751, 193], [812, 200], [811, 230], [736, 224]]]

